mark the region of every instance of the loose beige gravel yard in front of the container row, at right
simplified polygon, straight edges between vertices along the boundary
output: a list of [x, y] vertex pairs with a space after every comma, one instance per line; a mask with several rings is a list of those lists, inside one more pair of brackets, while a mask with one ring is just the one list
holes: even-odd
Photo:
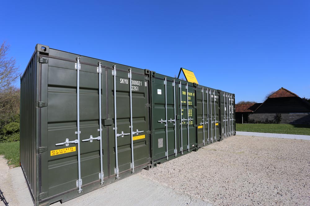
[[310, 141], [234, 136], [138, 175], [214, 205], [310, 205]]

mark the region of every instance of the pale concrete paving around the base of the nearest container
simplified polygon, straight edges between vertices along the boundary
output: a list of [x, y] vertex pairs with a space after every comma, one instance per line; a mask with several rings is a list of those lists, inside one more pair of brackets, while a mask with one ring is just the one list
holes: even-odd
[[[5, 206], [33, 206], [21, 167], [9, 169], [7, 160], [3, 157], [0, 157], [0, 191], [0, 196], [5, 198], [0, 201], [0, 206], [3, 203]], [[112, 183], [63, 204], [57, 202], [52, 205], [212, 206], [208, 202], [180, 193], [140, 175], [133, 175], [122, 179], [117, 183]]]

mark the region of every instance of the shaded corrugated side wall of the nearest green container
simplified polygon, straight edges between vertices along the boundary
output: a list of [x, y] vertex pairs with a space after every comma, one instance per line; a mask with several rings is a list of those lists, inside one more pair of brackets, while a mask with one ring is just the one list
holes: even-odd
[[37, 191], [38, 63], [34, 53], [20, 80], [20, 165], [33, 199]]

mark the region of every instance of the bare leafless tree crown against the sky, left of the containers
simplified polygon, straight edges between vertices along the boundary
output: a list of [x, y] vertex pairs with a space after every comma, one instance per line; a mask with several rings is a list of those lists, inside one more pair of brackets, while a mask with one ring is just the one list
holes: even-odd
[[15, 59], [7, 57], [9, 49], [10, 45], [4, 41], [0, 47], [0, 93], [12, 86], [20, 76]]

